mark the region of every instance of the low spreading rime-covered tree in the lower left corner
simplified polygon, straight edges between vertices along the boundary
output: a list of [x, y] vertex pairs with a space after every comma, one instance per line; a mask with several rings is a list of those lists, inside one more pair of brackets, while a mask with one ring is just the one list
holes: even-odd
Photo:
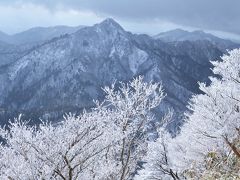
[[69, 115], [57, 126], [29, 127], [20, 119], [2, 130], [1, 179], [94, 179], [101, 177], [114, 124], [105, 124], [107, 111]]

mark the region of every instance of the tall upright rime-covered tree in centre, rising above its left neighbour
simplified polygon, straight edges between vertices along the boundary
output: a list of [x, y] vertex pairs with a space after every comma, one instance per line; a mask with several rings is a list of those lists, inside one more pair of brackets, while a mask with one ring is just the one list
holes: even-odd
[[139, 77], [129, 84], [122, 84], [118, 91], [105, 88], [106, 102], [119, 113], [114, 122], [123, 137], [110, 148], [114, 155], [115, 172], [112, 179], [131, 179], [147, 151], [146, 125], [152, 120], [150, 110], [164, 97], [160, 84], [144, 83]]

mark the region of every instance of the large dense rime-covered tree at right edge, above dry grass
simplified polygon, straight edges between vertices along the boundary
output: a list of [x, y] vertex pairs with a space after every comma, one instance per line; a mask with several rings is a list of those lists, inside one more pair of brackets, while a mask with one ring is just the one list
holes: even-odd
[[211, 78], [210, 86], [200, 84], [204, 94], [191, 99], [192, 113], [173, 142], [173, 152], [185, 154], [176, 154], [175, 164], [190, 177], [205, 176], [207, 171], [214, 178], [239, 177], [240, 50], [228, 53], [222, 61], [212, 62], [213, 72], [221, 78]]

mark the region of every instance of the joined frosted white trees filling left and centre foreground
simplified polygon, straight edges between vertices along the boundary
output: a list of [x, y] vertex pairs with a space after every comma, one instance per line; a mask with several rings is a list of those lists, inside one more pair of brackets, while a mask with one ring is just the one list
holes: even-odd
[[150, 110], [165, 95], [142, 77], [104, 91], [96, 108], [58, 125], [31, 127], [18, 118], [0, 129], [0, 179], [132, 179], [147, 151]]

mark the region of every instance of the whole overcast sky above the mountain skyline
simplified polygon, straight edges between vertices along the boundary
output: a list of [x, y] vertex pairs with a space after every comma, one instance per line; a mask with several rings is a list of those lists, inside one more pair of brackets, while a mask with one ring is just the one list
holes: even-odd
[[136, 33], [183, 28], [239, 38], [239, 7], [240, 0], [0, 0], [0, 30], [92, 25], [112, 17]]

